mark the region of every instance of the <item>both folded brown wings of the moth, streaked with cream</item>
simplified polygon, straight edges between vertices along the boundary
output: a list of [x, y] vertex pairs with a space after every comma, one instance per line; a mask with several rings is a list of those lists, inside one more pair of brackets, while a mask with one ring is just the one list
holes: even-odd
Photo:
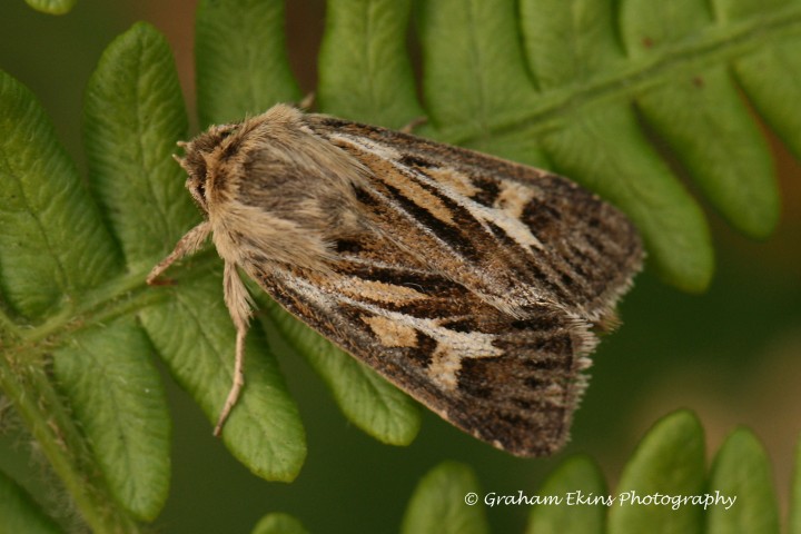
[[447, 421], [516, 455], [567, 436], [581, 369], [641, 261], [619, 211], [568, 180], [306, 116], [369, 172], [369, 229], [332, 273], [246, 270], [284, 307]]

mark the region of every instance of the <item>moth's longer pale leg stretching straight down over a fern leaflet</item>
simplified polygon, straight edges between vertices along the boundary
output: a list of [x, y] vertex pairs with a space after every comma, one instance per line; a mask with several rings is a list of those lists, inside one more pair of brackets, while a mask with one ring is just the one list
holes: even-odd
[[239, 394], [245, 385], [245, 336], [249, 328], [250, 319], [250, 295], [247, 293], [245, 284], [236, 270], [236, 264], [226, 261], [225, 271], [222, 273], [222, 287], [225, 289], [225, 301], [228, 306], [228, 313], [234, 320], [234, 326], [237, 329], [237, 343], [236, 343], [236, 359], [234, 364], [234, 383], [226, 397], [222, 412], [220, 412], [217, 425], [214, 429], [214, 435], [219, 436], [222, 432], [222, 426], [226, 419], [236, 406], [239, 399]]

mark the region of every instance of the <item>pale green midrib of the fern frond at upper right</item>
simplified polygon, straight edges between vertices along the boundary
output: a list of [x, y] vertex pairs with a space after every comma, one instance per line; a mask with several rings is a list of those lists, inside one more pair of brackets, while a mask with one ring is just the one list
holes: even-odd
[[[665, 79], [679, 80], [684, 73], [701, 73], [712, 66], [725, 66], [743, 57], [746, 51], [769, 46], [788, 34], [801, 34], [801, 6], [793, 3], [772, 11], [719, 26], [714, 22], [703, 31], [690, 34], [672, 44], [657, 48], [653, 53], [636, 59], [621, 58], [619, 69], [609, 76], [570, 89], [537, 95], [535, 103], [526, 109], [495, 117], [491, 131], [494, 135], [525, 132], [537, 135], [554, 128], [554, 122], [574, 115], [576, 109], [600, 101], [629, 101]], [[456, 145], [472, 145], [486, 136], [465, 129], [464, 125], [437, 130], [437, 137]]]

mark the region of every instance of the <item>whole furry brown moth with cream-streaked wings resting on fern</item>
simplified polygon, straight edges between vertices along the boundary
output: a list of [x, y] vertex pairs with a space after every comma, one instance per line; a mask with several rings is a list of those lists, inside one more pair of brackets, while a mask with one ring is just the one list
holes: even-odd
[[244, 384], [237, 269], [455, 426], [518, 456], [566, 441], [597, 338], [643, 253], [617, 209], [551, 172], [277, 105], [179, 144], [212, 235]]

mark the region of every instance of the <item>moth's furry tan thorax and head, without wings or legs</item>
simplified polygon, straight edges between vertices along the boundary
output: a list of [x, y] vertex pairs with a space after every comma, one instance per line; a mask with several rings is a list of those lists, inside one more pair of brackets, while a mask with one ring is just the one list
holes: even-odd
[[295, 108], [276, 105], [181, 147], [185, 156], [176, 159], [188, 174], [187, 189], [211, 222], [218, 251], [233, 263], [248, 248], [323, 270], [337, 239], [363, 231], [356, 189], [369, 170]]

